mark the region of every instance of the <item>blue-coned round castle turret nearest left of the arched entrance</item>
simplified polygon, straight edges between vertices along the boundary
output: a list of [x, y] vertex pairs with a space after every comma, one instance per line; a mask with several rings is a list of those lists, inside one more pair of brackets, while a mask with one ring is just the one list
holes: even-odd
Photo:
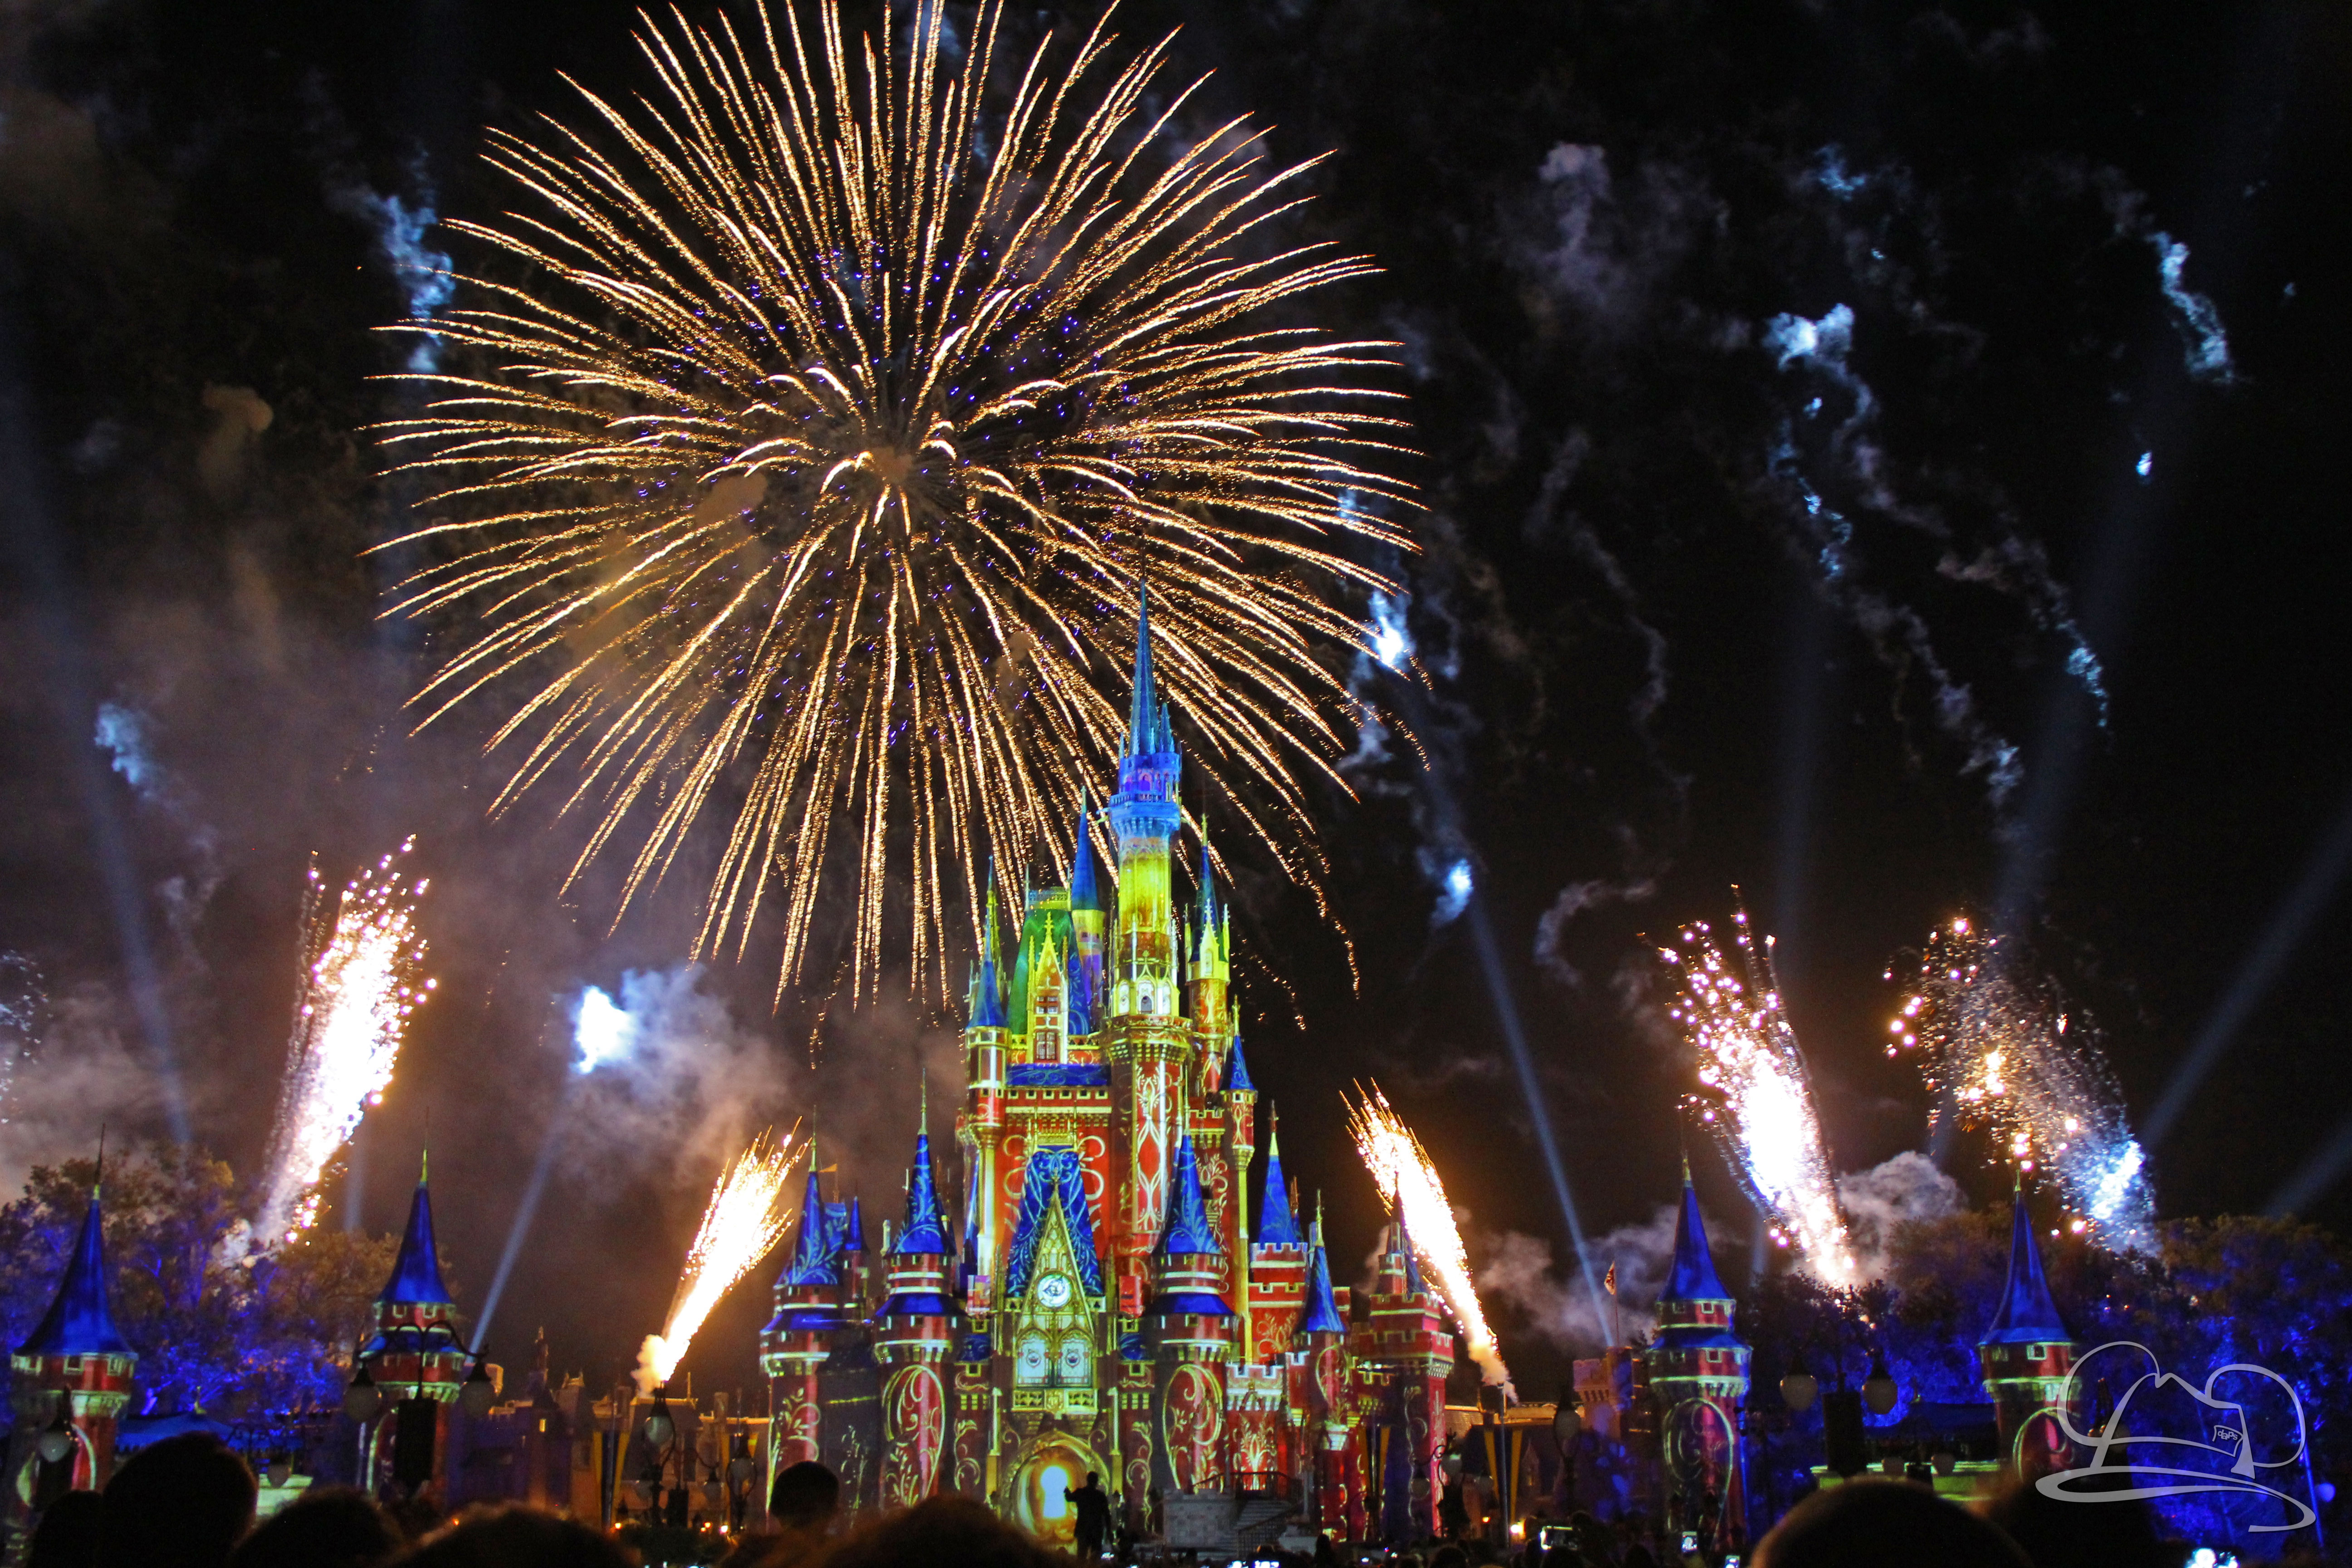
[[948, 1450], [948, 1363], [955, 1352], [955, 1298], [948, 1295], [948, 1215], [931, 1175], [924, 1110], [906, 1182], [906, 1229], [889, 1248], [889, 1298], [875, 1314], [882, 1363], [882, 1507], [913, 1507], [941, 1490]]

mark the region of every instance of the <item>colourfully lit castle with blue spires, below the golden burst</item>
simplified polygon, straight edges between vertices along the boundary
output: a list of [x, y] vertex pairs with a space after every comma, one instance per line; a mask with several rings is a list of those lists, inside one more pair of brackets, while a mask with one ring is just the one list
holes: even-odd
[[854, 1502], [962, 1493], [1063, 1542], [1087, 1472], [1138, 1526], [1150, 1500], [1225, 1493], [1251, 1500], [1249, 1516], [1296, 1512], [1348, 1537], [1430, 1533], [1454, 1338], [1402, 1229], [1369, 1300], [1331, 1286], [1270, 1107], [1251, 1168], [1258, 1091], [1207, 849], [1190, 919], [1176, 903], [1181, 762], [1145, 607], [1101, 813], [1115, 870], [1082, 813], [1068, 886], [1025, 889], [1016, 922], [988, 891], [955, 1117], [960, 1218], [929, 1124], [880, 1262], [856, 1201], [828, 1201], [809, 1161], [760, 1335], [769, 1474], [821, 1458]]

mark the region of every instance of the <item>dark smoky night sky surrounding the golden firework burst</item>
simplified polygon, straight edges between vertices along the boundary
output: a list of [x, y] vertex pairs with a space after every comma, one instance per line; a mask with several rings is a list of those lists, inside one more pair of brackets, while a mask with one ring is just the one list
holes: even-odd
[[[480, 132], [569, 113], [560, 73], [640, 87], [630, 21], [0, 16], [0, 980], [40, 997], [0, 1180], [101, 1119], [167, 1131], [160, 1044], [191, 1131], [259, 1164], [303, 863], [341, 879], [416, 832], [440, 994], [329, 1222], [397, 1222], [430, 1119], [473, 1307], [560, 1126], [494, 1349], [546, 1324], [593, 1378], [659, 1326], [717, 1140], [809, 1117], [891, 1213], [917, 1063], [957, 1072], [953, 1020], [903, 999], [771, 1011], [757, 947], [677, 978], [691, 877], [607, 933], [609, 877], [557, 900], [579, 825], [548, 802], [487, 820], [482, 731], [412, 738], [400, 708], [423, 628], [376, 618], [390, 567], [360, 555], [414, 498], [367, 433], [405, 355], [376, 327], [416, 282], [388, 237], [494, 216]], [[2253, 969], [2154, 1187], [2161, 1215], [2270, 1206], [2352, 1117], [2328, 860], [2352, 811], [2345, 14], [1120, 9], [1129, 42], [1171, 26], [1176, 66], [1214, 73], [1190, 122], [1254, 113], [1272, 155], [1334, 153], [1294, 233], [1383, 266], [1322, 320], [1404, 346], [1423, 454], [1402, 574], [1425, 684], [1383, 696], [1430, 773], [1390, 745], [1324, 813], [1359, 987], [1265, 867], [1237, 889], [1251, 1072], [1338, 1251], [1378, 1213], [1338, 1093], [1378, 1079], [1475, 1260], [1566, 1260], [1496, 983], [1585, 1229], [1646, 1225], [1691, 1067], [1642, 936], [1722, 922], [1733, 884], [1780, 938], [1849, 1171], [1926, 1145], [1882, 976], [1955, 910], [2006, 917], [2136, 1119]], [[1442, 919], [1456, 863], [1475, 905]], [[2265, 969], [2298, 886], [2310, 919]], [[567, 1091], [569, 999], [626, 971], [666, 976], [699, 1044], [626, 1098]], [[1745, 1241], [1722, 1161], [1693, 1164]], [[1966, 1138], [1950, 1171], [2006, 1187]], [[2352, 1182], [2307, 1213], [2343, 1225]], [[687, 1366], [748, 1382], [764, 1312], [762, 1272]], [[1548, 1394], [1564, 1340], [1498, 1316]]]

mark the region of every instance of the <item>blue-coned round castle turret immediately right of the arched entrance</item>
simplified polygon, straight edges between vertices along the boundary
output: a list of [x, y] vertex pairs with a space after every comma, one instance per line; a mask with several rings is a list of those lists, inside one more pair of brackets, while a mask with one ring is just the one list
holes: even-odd
[[1192, 1138], [1176, 1143], [1169, 1218], [1152, 1253], [1152, 1305], [1143, 1342], [1152, 1352], [1160, 1403], [1162, 1493], [1216, 1490], [1225, 1483], [1225, 1359], [1232, 1354], [1232, 1307], [1218, 1295], [1225, 1248], [1200, 1194]]

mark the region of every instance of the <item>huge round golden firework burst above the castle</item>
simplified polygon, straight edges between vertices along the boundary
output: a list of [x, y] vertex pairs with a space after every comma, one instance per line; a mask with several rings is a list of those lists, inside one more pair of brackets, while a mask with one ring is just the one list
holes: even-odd
[[1319, 654], [1376, 654], [1343, 599], [1395, 592], [1350, 541], [1411, 545], [1381, 517], [1406, 487], [1364, 468], [1402, 451], [1364, 383], [1395, 346], [1272, 320], [1371, 270], [1265, 244], [1312, 165], [1268, 167], [1240, 120], [1178, 132], [1169, 40], [1023, 63], [1000, 16], [647, 19], [654, 92], [492, 132], [517, 207], [447, 228], [496, 266], [405, 327], [452, 369], [386, 440], [445, 515], [393, 541], [426, 564], [388, 614], [475, 616], [421, 722], [515, 686], [499, 806], [569, 762], [572, 877], [628, 844], [616, 919], [731, 816], [699, 950], [774, 900], [779, 987], [828, 884], [856, 891], [854, 992], [891, 886], [943, 985], [988, 853], [1068, 849], [1145, 581], [1195, 764], [1319, 898], [1310, 778], [1341, 783], [1359, 717]]

